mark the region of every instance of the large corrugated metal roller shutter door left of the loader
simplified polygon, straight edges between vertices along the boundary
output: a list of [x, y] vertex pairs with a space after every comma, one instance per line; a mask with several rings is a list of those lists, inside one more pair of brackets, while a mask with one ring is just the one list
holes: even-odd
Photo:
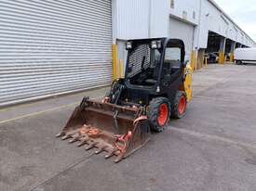
[[111, 83], [111, 0], [1, 0], [0, 106]]

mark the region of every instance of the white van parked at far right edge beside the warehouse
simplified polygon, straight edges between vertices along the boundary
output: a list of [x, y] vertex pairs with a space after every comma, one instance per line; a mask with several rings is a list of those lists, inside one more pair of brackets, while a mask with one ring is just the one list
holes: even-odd
[[236, 48], [236, 64], [256, 64], [256, 48]]

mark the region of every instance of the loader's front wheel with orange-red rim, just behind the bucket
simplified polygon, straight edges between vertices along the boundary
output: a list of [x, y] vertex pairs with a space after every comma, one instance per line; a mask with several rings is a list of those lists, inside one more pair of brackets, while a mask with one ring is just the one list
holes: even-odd
[[162, 132], [168, 123], [170, 115], [169, 101], [166, 97], [157, 97], [152, 99], [148, 108], [148, 118], [151, 124], [151, 130]]

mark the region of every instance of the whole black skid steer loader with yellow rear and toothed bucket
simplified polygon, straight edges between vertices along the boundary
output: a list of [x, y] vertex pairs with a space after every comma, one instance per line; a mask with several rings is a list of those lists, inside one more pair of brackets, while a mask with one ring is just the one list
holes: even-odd
[[150, 132], [162, 132], [169, 118], [184, 116], [192, 94], [192, 70], [179, 39], [127, 43], [124, 79], [116, 80], [102, 101], [84, 97], [57, 137], [98, 148], [105, 158], [125, 159], [144, 146]]

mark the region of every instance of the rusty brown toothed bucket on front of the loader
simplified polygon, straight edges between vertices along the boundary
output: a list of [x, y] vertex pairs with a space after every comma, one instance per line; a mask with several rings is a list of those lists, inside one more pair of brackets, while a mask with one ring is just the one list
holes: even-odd
[[77, 142], [85, 149], [98, 148], [115, 162], [127, 158], [149, 141], [150, 128], [144, 108], [120, 107], [85, 97], [57, 137]]

